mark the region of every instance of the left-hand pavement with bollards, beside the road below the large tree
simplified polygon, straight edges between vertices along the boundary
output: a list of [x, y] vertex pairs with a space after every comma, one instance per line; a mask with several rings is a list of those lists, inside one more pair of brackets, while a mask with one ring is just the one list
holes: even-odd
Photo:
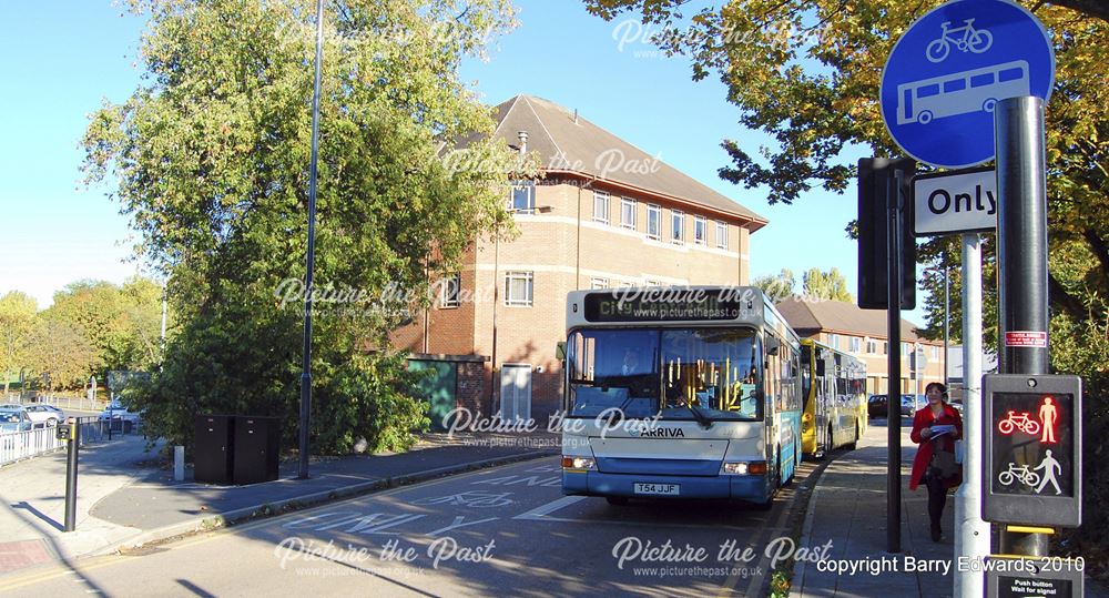
[[52, 562], [111, 554], [285, 508], [354, 496], [515, 460], [553, 455], [557, 436], [429, 434], [403, 454], [313, 459], [308, 479], [283, 463], [275, 482], [175, 482], [136, 435], [80, 453], [75, 529], [64, 531], [65, 453], [0, 468], [0, 577]]

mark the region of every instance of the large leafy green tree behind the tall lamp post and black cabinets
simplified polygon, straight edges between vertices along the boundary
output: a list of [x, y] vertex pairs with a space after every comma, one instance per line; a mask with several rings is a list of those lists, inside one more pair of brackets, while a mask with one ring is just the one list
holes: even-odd
[[[139, 254], [167, 275], [180, 323], [162, 372], [133, 399], [173, 442], [206, 411], [283, 416], [292, 440], [303, 295], [287, 291], [305, 273], [315, 2], [131, 6], [149, 14], [144, 79], [92, 115], [84, 148], [89, 182], [118, 181]], [[325, 7], [312, 291], [380, 301], [317, 302], [314, 446], [407, 446], [427, 418], [404, 396], [410, 378], [386, 334], [425, 301], [429, 273], [454, 270], [507, 220], [509, 180], [532, 174], [490, 138], [490, 109], [458, 78], [462, 55], [480, 54], [513, 14], [508, 0]], [[445, 150], [460, 140], [465, 150]]]

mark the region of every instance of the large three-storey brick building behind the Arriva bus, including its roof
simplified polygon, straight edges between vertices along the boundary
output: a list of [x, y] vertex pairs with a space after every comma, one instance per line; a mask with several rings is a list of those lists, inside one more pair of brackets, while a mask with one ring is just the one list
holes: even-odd
[[541, 423], [561, 405], [567, 293], [746, 284], [750, 234], [767, 221], [577, 111], [517, 95], [495, 118], [495, 135], [543, 165], [541, 180], [505, 190], [520, 234], [476, 241], [437, 304], [393, 342], [488, 357], [482, 413]]

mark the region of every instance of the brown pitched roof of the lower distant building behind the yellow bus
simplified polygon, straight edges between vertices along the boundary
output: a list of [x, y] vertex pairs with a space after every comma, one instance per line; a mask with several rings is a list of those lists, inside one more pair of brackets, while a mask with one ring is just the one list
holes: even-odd
[[[889, 328], [885, 310], [861, 310], [854, 303], [842, 301], [801, 301], [787, 298], [780, 302], [777, 311], [798, 334], [817, 331], [885, 338]], [[917, 334], [912, 322], [902, 318], [902, 341], [926, 341]]]

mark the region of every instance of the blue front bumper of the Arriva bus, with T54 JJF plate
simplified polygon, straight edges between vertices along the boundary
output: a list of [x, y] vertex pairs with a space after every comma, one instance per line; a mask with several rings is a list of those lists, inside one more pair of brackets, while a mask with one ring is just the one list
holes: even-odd
[[[641, 494], [635, 491], [635, 484], [674, 484], [678, 485], [678, 494]], [[765, 503], [771, 498], [771, 487], [764, 476], [660, 476], [562, 472], [562, 494], [638, 498], [739, 498], [752, 503]]]

